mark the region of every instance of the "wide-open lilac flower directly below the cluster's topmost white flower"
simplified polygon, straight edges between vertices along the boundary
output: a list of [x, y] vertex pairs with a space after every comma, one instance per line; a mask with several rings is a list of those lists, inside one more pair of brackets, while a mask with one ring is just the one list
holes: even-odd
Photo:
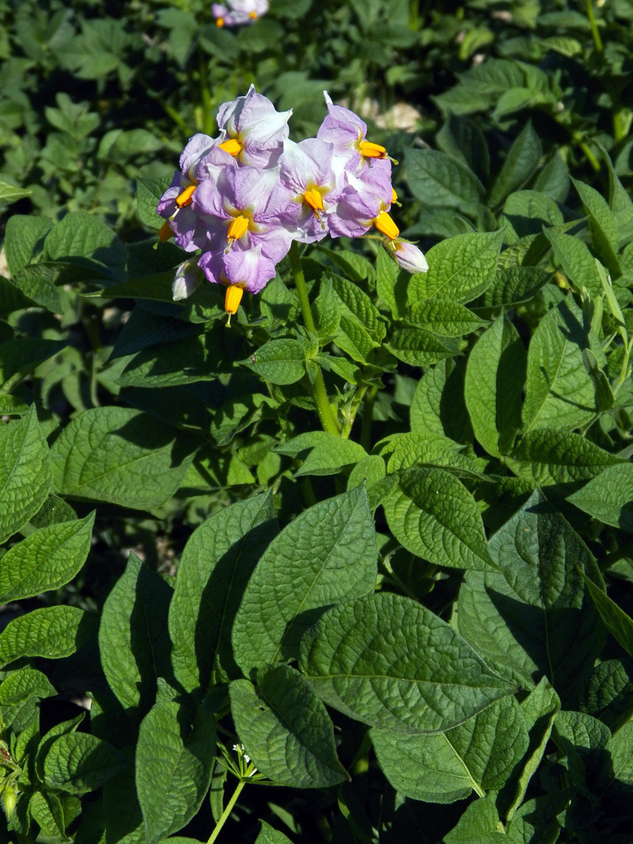
[[217, 181], [201, 182], [195, 204], [209, 226], [206, 249], [262, 245], [262, 254], [278, 263], [288, 253], [296, 230], [292, 193], [279, 181], [279, 167], [225, 168]]

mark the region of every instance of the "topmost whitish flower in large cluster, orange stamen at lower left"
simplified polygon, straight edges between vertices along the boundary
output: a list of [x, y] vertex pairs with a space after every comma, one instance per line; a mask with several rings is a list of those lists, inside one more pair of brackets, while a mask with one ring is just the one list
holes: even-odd
[[251, 167], [273, 167], [288, 138], [289, 111], [276, 111], [268, 97], [251, 85], [246, 96], [219, 107], [222, 149]]

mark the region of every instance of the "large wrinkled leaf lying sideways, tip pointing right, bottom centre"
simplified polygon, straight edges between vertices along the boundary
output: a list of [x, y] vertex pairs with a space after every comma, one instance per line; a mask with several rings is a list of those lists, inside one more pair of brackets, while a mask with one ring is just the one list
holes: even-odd
[[390, 592], [328, 610], [301, 641], [300, 670], [328, 706], [398, 733], [450, 729], [516, 689], [445, 621]]

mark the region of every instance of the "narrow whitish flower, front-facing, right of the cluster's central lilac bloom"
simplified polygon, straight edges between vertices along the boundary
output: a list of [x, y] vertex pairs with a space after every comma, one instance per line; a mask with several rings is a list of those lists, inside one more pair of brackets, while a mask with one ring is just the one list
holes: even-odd
[[318, 138], [295, 143], [286, 139], [279, 159], [280, 178], [292, 192], [302, 243], [320, 241], [327, 235], [327, 214], [334, 208], [342, 186], [332, 165], [333, 145]]

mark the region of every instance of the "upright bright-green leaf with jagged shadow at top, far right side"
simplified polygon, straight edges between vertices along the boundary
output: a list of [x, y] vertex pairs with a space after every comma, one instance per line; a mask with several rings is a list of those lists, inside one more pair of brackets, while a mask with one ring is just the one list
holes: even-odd
[[596, 413], [596, 388], [583, 357], [583, 349], [593, 348], [595, 341], [583, 323], [582, 314], [565, 300], [545, 314], [533, 333], [522, 412], [526, 430], [572, 430]]

